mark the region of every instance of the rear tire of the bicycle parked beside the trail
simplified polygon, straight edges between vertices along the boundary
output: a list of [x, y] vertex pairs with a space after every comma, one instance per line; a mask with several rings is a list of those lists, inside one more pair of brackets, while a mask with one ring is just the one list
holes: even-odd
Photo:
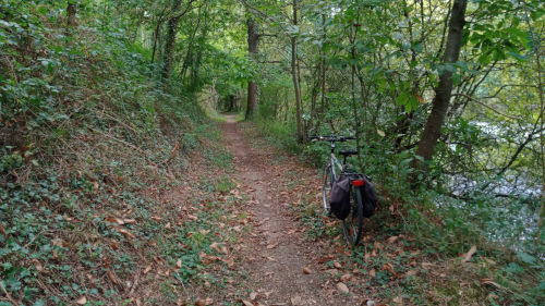
[[347, 241], [356, 246], [363, 233], [363, 197], [360, 187], [351, 187], [350, 215], [342, 220], [342, 232]]

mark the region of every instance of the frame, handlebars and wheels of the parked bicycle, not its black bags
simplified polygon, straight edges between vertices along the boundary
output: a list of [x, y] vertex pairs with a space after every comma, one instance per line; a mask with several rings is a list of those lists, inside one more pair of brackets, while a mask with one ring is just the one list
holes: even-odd
[[343, 156], [342, 163], [339, 161], [335, 155], [335, 143], [355, 140], [355, 137], [343, 137], [336, 136], [331, 134], [329, 136], [311, 136], [313, 142], [329, 142], [331, 152], [329, 156], [329, 161], [324, 167], [323, 184], [322, 184], [322, 201], [324, 205], [324, 210], [326, 215], [331, 215], [331, 207], [329, 205], [331, 188], [334, 182], [342, 174], [349, 175], [350, 178], [350, 213], [347, 218], [342, 219], [342, 231], [344, 237], [352, 245], [358, 245], [362, 237], [363, 232], [363, 194], [362, 186], [365, 184], [364, 175], [362, 173], [355, 173], [352, 171], [350, 166], [347, 163], [347, 157], [358, 154], [355, 149], [339, 150], [339, 154]]

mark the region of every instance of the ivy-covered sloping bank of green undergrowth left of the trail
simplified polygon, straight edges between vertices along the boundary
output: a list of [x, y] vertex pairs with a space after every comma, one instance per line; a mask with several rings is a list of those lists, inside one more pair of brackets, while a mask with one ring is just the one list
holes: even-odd
[[203, 252], [223, 255], [210, 244], [232, 240], [217, 229], [239, 200], [197, 183], [232, 156], [195, 98], [122, 29], [85, 11], [66, 29], [65, 1], [0, 3], [0, 305], [166, 305], [221, 285]]

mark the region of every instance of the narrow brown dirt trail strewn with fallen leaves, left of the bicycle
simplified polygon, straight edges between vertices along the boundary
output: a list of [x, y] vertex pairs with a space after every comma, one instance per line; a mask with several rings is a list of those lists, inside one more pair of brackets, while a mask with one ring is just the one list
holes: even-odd
[[[278, 184], [276, 180], [283, 179], [270, 169], [270, 149], [252, 148], [234, 117], [227, 120], [221, 128], [234, 156], [235, 180], [251, 192], [250, 212], [255, 221], [239, 265], [247, 271], [250, 281], [238, 284], [243, 285], [238, 289], [256, 292], [255, 301], [261, 305], [356, 305], [355, 295], [340, 294], [336, 283], [320, 277], [316, 247], [304, 240], [301, 225], [289, 217], [278, 191], [271, 188]], [[312, 273], [304, 273], [304, 267]]]

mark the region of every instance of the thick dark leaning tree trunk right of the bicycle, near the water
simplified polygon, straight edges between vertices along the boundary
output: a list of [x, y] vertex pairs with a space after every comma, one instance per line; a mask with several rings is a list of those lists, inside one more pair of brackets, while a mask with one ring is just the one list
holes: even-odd
[[[467, 7], [467, 0], [455, 0], [452, 4], [447, 47], [443, 61], [446, 64], [457, 62], [460, 56]], [[434, 90], [435, 97], [433, 100], [432, 113], [427, 118], [426, 126], [422, 133], [416, 150], [416, 155], [423, 157], [425, 160], [432, 159], [437, 139], [440, 136], [440, 130], [445, 122], [452, 93], [452, 72], [445, 71], [439, 76], [439, 84]]]

